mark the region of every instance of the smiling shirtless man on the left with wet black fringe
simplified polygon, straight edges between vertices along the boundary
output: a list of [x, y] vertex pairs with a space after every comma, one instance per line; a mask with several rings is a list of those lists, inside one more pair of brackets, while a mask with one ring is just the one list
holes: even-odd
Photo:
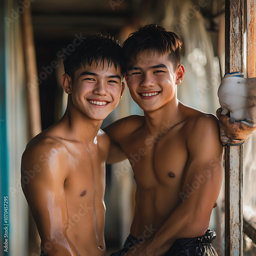
[[63, 61], [65, 114], [34, 137], [22, 156], [22, 187], [40, 234], [41, 255], [105, 255], [110, 140], [99, 129], [123, 92], [124, 65], [122, 49], [110, 37], [80, 41]]

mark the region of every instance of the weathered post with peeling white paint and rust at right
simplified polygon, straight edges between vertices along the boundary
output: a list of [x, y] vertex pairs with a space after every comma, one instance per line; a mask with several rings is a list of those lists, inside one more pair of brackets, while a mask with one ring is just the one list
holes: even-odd
[[[243, 72], [244, 1], [225, 1], [225, 73]], [[225, 255], [243, 255], [243, 145], [225, 148]]]

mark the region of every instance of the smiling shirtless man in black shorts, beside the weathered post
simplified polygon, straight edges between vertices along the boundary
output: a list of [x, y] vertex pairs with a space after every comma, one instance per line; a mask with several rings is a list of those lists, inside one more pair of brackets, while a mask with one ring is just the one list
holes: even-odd
[[[185, 73], [181, 45], [175, 33], [154, 24], [123, 44], [127, 85], [144, 116], [104, 129], [112, 140], [108, 162], [128, 158], [137, 185], [131, 234], [113, 256], [217, 255], [208, 227], [222, 184], [223, 148], [217, 118], [177, 99]], [[155, 230], [151, 236], [148, 228]]]

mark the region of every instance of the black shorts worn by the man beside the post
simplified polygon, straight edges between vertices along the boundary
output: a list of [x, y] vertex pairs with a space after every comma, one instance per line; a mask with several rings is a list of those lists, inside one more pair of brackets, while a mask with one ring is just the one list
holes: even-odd
[[[172, 247], [165, 253], [165, 256], [218, 256], [212, 242], [216, 238], [216, 232], [208, 229], [202, 237], [199, 238], [181, 238], [177, 239]], [[131, 234], [124, 242], [123, 248], [113, 252], [110, 256], [123, 256], [132, 246], [141, 242]], [[134, 246], [136, 250], [136, 246]]]

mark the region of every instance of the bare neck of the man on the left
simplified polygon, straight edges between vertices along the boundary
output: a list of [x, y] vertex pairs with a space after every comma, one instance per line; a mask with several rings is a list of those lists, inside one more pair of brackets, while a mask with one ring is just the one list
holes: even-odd
[[93, 120], [75, 108], [68, 100], [65, 114], [59, 122], [66, 126], [67, 137], [71, 140], [93, 143], [103, 120]]

